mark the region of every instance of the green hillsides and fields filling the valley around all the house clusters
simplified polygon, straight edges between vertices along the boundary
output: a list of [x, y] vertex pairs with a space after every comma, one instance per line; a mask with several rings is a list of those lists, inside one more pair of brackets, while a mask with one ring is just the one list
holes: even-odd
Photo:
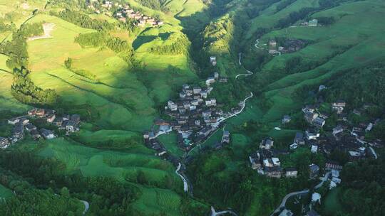
[[[163, 24], [118, 20], [125, 5]], [[301, 175], [272, 179], [253, 171], [248, 156], [267, 136], [274, 148], [287, 149], [296, 132], [307, 129], [305, 104], [319, 96], [322, 109], [339, 97], [349, 111], [372, 104], [370, 117], [380, 126], [370, 137], [383, 137], [384, 9], [382, 0], [116, 0], [111, 6], [0, 0], [0, 134], [10, 135], [13, 126], [6, 120], [32, 107], [80, 114], [82, 121], [80, 131], [69, 136], [34, 141], [26, 135], [0, 149], [0, 197], [8, 200], [0, 204], [4, 214], [25, 211], [24, 205], [19, 212], [12, 206], [33, 202], [23, 193], [28, 189], [39, 197], [35, 207], [42, 211], [50, 199], [70, 199], [58, 211], [63, 215], [81, 215], [78, 200], [90, 202], [86, 215], [208, 215], [210, 206], [237, 215], [270, 215], [284, 195], [314, 185], [303, 173], [327, 158], [300, 148], [281, 158], [284, 168], [295, 166]], [[312, 19], [317, 26], [304, 24]], [[272, 40], [274, 55], [269, 54]], [[288, 41], [302, 46], [285, 52]], [[210, 93], [224, 112], [250, 93], [253, 97], [188, 153], [179, 148], [175, 132], [159, 136], [168, 153], [157, 156], [143, 131], [155, 119], [171, 119], [164, 107], [179, 97], [183, 84], [203, 86], [213, 72], [227, 79], [213, 84]], [[327, 91], [317, 92], [319, 85], [327, 85]], [[284, 126], [287, 114], [292, 122]], [[230, 131], [231, 142], [215, 150], [222, 129]], [[172, 156], [186, 168], [188, 193]], [[336, 215], [323, 209], [368, 196], [355, 188], [353, 177], [344, 173], [344, 178], [349, 184], [329, 193], [325, 207], [317, 210]], [[342, 202], [342, 195], [352, 196]]]

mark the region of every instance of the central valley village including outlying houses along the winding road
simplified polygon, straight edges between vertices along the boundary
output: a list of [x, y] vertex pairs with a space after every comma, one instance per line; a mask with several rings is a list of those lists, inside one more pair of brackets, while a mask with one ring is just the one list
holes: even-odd
[[[215, 56], [210, 57], [210, 63], [213, 66], [216, 65]], [[165, 114], [172, 120], [155, 120], [153, 128], [143, 134], [145, 143], [150, 148], [155, 149], [159, 156], [167, 156], [170, 161], [178, 164], [178, 159], [168, 154], [167, 149], [157, 139], [159, 135], [176, 131], [178, 147], [188, 152], [205, 142], [211, 134], [222, 126], [225, 119], [240, 113], [245, 107], [244, 102], [240, 102], [239, 107], [233, 107], [230, 112], [224, 113], [219, 108], [217, 100], [210, 97], [210, 92], [213, 90], [210, 85], [215, 82], [227, 82], [227, 77], [220, 77], [218, 72], [214, 72], [211, 77], [207, 77], [205, 80], [205, 87], [183, 85], [179, 98], [169, 100], [165, 106]], [[220, 143], [215, 145], [215, 148], [220, 149], [226, 144], [230, 144], [230, 132], [224, 130], [222, 139]]]

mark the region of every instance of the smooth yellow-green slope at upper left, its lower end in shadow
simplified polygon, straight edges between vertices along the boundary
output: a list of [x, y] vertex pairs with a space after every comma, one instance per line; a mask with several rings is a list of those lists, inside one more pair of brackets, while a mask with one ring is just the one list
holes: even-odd
[[[86, 107], [97, 124], [132, 130], [150, 125], [153, 102], [128, 65], [111, 50], [83, 49], [74, 42], [78, 33], [92, 30], [53, 16], [39, 15], [31, 21], [56, 25], [52, 38], [28, 43], [31, 79], [36, 85], [56, 90], [64, 106]], [[73, 58], [75, 68], [91, 72], [96, 80], [67, 70], [64, 61], [68, 57]]]

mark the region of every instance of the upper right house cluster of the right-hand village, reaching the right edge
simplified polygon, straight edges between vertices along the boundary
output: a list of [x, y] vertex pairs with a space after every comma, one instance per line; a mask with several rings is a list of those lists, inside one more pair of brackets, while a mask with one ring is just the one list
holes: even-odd
[[[321, 88], [321, 87], [320, 87]], [[306, 106], [302, 109], [304, 119], [311, 125], [309, 129], [298, 132], [294, 138], [293, 144], [289, 146], [295, 149], [305, 143], [311, 148], [313, 153], [321, 151], [329, 155], [334, 150], [346, 152], [351, 161], [356, 161], [361, 158], [372, 157], [376, 158], [374, 147], [383, 146], [382, 142], [365, 141], [365, 134], [379, 122], [379, 119], [373, 119], [371, 122], [361, 122], [359, 124], [351, 124], [347, 120], [347, 114], [344, 113], [346, 102], [338, 100], [331, 105], [332, 110], [337, 114], [337, 125], [334, 126], [330, 133], [325, 133], [320, 136], [319, 129], [324, 126], [327, 114], [321, 114], [317, 110], [317, 105]], [[362, 109], [367, 109], [364, 106]], [[360, 115], [362, 110], [354, 109], [353, 114]], [[285, 116], [282, 122], [287, 122], [289, 117]]]

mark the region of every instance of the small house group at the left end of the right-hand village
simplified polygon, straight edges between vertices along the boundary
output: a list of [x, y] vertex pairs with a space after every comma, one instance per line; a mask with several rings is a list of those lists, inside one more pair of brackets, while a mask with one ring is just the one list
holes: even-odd
[[280, 154], [287, 154], [287, 151], [277, 151], [273, 149], [274, 141], [272, 138], [263, 139], [260, 149], [249, 156], [251, 167], [258, 173], [271, 178], [296, 178], [298, 171], [294, 167], [282, 168], [279, 161]]

